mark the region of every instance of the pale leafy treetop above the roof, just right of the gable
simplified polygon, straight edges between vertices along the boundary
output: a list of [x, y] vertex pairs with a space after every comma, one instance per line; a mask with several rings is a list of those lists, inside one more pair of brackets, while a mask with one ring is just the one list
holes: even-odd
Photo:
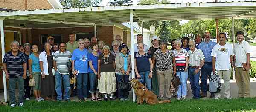
[[98, 6], [102, 0], [59, 0], [64, 8]]

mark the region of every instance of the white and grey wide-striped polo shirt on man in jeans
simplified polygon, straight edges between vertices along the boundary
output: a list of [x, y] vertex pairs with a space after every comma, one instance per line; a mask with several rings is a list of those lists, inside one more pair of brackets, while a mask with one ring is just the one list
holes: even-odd
[[65, 51], [56, 51], [53, 55], [53, 60], [56, 61], [57, 71], [60, 74], [66, 75], [69, 74], [67, 69], [67, 63], [70, 61], [71, 52]]

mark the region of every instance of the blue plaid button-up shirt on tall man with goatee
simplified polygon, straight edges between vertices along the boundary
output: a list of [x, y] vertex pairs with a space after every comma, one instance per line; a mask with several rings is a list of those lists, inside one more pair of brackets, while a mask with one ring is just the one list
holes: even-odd
[[212, 62], [212, 56], [211, 56], [211, 53], [212, 53], [212, 48], [213, 46], [215, 46], [217, 43], [215, 42], [212, 42], [212, 41], [209, 41], [208, 43], [206, 42], [201, 42], [199, 45], [198, 45], [198, 49], [201, 49], [203, 54], [204, 54], [204, 57], [205, 57], [205, 62]]

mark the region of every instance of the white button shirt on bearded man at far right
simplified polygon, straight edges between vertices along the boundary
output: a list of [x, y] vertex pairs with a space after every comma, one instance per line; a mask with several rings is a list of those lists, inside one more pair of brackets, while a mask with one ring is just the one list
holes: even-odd
[[242, 43], [236, 43], [234, 45], [234, 55], [236, 55], [236, 67], [243, 67], [242, 63], [246, 63], [246, 54], [250, 53], [250, 44], [247, 41], [242, 41]]

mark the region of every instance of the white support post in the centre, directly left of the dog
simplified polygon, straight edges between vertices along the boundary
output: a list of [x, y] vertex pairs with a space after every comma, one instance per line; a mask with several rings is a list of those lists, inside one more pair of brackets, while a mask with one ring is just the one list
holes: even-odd
[[[133, 30], [133, 9], [130, 10], [130, 29], [131, 29], [131, 57], [134, 57], [134, 30]], [[135, 78], [134, 72], [134, 60], [131, 60], [131, 75], [132, 78]], [[134, 89], [132, 89], [132, 101], [135, 102], [135, 93]]]

